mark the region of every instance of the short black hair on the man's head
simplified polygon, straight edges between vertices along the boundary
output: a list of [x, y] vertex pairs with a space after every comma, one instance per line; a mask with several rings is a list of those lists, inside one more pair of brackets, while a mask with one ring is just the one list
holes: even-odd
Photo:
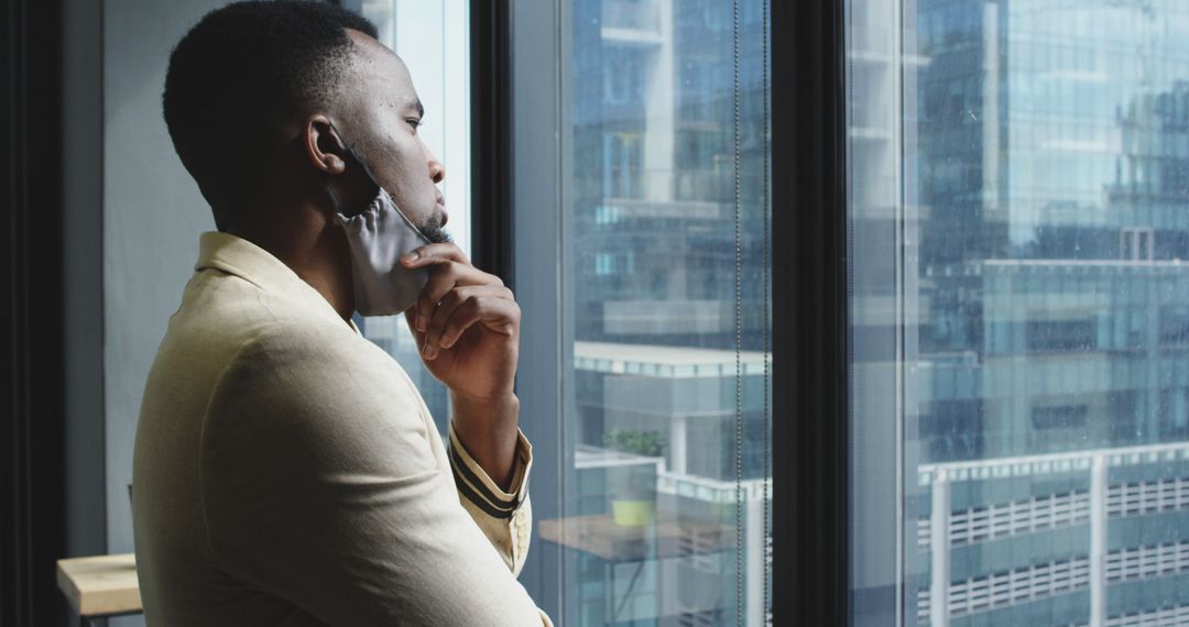
[[334, 97], [353, 46], [346, 28], [377, 36], [371, 21], [329, 4], [235, 2], [207, 13], [174, 49], [165, 126], [216, 223], [221, 203], [256, 191], [282, 126]]

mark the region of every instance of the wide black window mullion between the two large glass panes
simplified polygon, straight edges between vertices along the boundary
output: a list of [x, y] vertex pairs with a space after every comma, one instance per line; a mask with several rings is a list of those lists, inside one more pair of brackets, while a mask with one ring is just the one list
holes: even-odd
[[773, 618], [850, 622], [843, 2], [772, 2]]

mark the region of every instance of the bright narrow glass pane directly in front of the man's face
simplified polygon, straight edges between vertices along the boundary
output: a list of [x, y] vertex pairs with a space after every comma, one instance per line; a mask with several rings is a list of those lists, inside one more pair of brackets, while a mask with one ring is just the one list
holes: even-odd
[[[426, 108], [417, 134], [446, 166], [442, 195], [449, 209], [447, 230], [470, 254], [471, 245], [471, 52], [468, 0], [345, 0], [342, 5], [370, 19], [379, 42], [408, 65], [413, 86]], [[421, 362], [404, 316], [363, 318], [364, 336], [388, 350], [409, 373], [426, 399], [439, 431], [449, 424], [449, 395]]]

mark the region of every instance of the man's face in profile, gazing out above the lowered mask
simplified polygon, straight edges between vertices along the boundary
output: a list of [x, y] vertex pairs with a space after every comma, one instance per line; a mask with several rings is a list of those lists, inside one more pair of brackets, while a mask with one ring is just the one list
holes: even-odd
[[353, 71], [342, 81], [351, 118], [344, 138], [352, 144], [376, 182], [430, 239], [446, 224], [445, 198], [436, 184], [446, 169], [417, 134], [423, 110], [409, 69], [395, 52], [364, 33], [348, 30], [356, 43]]

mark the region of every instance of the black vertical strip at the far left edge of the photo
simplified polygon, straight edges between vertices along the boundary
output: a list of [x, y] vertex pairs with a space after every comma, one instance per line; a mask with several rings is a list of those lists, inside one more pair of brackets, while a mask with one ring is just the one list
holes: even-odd
[[0, 625], [52, 625], [65, 619], [55, 571], [65, 550], [62, 5], [0, 11]]

